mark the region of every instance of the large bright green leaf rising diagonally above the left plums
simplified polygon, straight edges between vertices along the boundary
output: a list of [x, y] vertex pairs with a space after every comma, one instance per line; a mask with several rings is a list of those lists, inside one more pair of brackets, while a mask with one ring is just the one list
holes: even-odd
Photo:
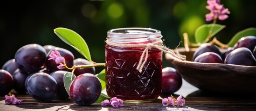
[[83, 37], [67, 28], [56, 28], [54, 33], [65, 43], [76, 49], [87, 60], [91, 61], [89, 48], [84, 41]]

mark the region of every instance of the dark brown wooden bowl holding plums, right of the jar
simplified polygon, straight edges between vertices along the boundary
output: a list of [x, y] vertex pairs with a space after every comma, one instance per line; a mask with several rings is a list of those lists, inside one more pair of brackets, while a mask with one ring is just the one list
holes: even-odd
[[170, 54], [165, 57], [184, 80], [201, 90], [256, 95], [256, 67], [182, 61]]

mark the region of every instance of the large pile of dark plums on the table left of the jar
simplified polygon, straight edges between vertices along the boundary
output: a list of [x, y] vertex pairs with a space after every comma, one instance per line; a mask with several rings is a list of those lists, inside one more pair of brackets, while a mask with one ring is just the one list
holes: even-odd
[[[89, 65], [89, 61], [83, 58], [74, 59], [74, 55], [67, 49], [53, 45], [41, 46], [39, 44], [27, 44], [15, 53], [14, 59], [7, 61], [0, 70], [0, 95], [6, 95], [14, 89], [17, 93], [28, 93], [38, 101], [51, 101], [53, 99], [67, 99], [69, 94], [63, 84], [63, 75], [71, 72], [67, 69], [58, 69], [55, 60], [48, 60], [52, 50], [60, 52], [65, 58], [69, 68], [73, 65]], [[76, 79], [70, 86], [70, 97], [76, 103], [84, 104], [96, 102], [101, 93], [101, 83], [94, 75], [95, 68], [76, 68]], [[80, 88], [81, 84], [83, 88]], [[80, 88], [80, 92], [76, 92]], [[86, 90], [86, 89], [92, 90]], [[83, 91], [84, 90], [84, 91]], [[81, 92], [83, 95], [81, 95]], [[95, 100], [96, 99], [96, 100]]]

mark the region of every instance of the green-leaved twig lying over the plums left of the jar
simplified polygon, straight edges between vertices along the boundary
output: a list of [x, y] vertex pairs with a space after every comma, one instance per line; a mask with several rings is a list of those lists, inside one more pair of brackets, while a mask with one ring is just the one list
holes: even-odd
[[[77, 34], [75, 31], [72, 31], [67, 28], [56, 28], [54, 29], [54, 33], [65, 43], [69, 44], [71, 47], [76, 49], [81, 55], [83, 55], [88, 61], [92, 62], [93, 64], [90, 65], [78, 65], [78, 66], [73, 66], [72, 68], [72, 73], [67, 72], [64, 74], [63, 77], [63, 82], [65, 89], [67, 93], [69, 94], [69, 87], [72, 83], [72, 81], [76, 78], [75, 74], [73, 73], [75, 68], [90, 68], [90, 67], [104, 67], [105, 63], [96, 63], [93, 62], [90, 56], [90, 50], [83, 39], [79, 34]], [[62, 60], [65, 62], [64, 60]], [[67, 68], [65, 64], [62, 64], [64, 68]], [[102, 86], [102, 90], [104, 90], [105, 86], [105, 70], [102, 70], [99, 74], [96, 74], [96, 76], [99, 78]], [[104, 93], [101, 93], [99, 99], [97, 100], [96, 103], [100, 103], [104, 99], [110, 99], [107, 95]]]

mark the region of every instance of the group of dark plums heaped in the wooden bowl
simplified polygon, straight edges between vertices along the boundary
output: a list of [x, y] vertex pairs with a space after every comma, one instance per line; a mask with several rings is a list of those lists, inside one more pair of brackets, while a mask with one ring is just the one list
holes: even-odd
[[195, 50], [193, 61], [202, 63], [224, 63], [244, 66], [256, 66], [256, 37], [240, 38], [234, 45], [222, 52], [210, 43], [201, 44]]

